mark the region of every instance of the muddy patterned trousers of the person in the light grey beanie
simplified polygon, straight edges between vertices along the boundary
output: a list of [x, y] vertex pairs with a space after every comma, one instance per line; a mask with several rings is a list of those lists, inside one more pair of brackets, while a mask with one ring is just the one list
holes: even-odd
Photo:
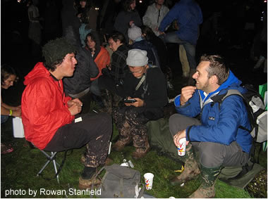
[[124, 106], [115, 108], [112, 113], [119, 132], [119, 139], [132, 139], [135, 148], [146, 148], [146, 123], [149, 119], [143, 115], [144, 110], [143, 107]]

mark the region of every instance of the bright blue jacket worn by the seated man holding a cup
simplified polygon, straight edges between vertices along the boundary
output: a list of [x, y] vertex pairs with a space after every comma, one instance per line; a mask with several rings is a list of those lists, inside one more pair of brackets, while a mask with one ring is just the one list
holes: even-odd
[[250, 153], [252, 145], [252, 137], [249, 132], [238, 128], [243, 126], [250, 129], [250, 121], [248, 112], [245, 108], [243, 99], [240, 96], [229, 96], [226, 98], [219, 108], [219, 103], [213, 105], [212, 97], [218, 94], [225, 94], [229, 89], [237, 89], [241, 94], [245, 93], [245, 89], [240, 86], [242, 82], [233, 72], [230, 71], [228, 79], [219, 86], [219, 88], [204, 95], [204, 91], [195, 90], [193, 97], [188, 100], [185, 105], [181, 105], [181, 95], [176, 96], [175, 106], [178, 113], [196, 117], [201, 113], [202, 125], [193, 126], [186, 129], [186, 139], [188, 134], [190, 141], [215, 142], [229, 145], [236, 141], [246, 153]]

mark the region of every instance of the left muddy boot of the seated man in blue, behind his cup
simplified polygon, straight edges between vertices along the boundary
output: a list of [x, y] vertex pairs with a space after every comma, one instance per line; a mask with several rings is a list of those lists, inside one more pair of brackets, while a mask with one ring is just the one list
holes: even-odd
[[200, 169], [193, 155], [193, 146], [190, 145], [186, 148], [184, 170], [179, 175], [171, 179], [171, 185], [183, 184], [186, 181], [194, 179], [195, 176], [200, 174]]

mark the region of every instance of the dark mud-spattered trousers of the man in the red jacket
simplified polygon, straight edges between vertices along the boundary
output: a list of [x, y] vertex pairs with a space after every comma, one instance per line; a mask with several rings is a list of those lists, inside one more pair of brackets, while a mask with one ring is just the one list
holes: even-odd
[[81, 122], [59, 128], [44, 150], [63, 151], [86, 145], [85, 166], [104, 165], [112, 133], [111, 116], [106, 113], [81, 115]]

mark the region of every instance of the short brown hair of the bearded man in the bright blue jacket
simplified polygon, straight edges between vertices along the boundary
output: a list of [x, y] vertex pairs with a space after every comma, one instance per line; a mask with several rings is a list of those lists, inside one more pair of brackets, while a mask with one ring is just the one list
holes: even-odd
[[202, 55], [200, 62], [209, 61], [209, 68], [207, 69], [208, 78], [212, 75], [216, 75], [218, 78], [218, 83], [221, 85], [229, 77], [229, 67], [226, 65], [224, 58], [219, 55]]

